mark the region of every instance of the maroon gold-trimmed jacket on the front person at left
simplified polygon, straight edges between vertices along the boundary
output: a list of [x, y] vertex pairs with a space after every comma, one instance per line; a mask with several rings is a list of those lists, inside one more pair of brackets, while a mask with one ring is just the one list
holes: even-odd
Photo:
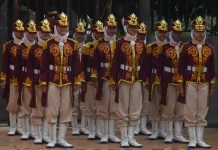
[[[46, 43], [40, 66], [40, 85], [54, 84], [62, 87], [69, 84], [80, 85], [81, 63], [78, 57], [78, 43], [72, 39], [64, 41], [63, 59], [59, 42], [51, 39]], [[55, 67], [67, 67], [67, 71], [54, 70]]]

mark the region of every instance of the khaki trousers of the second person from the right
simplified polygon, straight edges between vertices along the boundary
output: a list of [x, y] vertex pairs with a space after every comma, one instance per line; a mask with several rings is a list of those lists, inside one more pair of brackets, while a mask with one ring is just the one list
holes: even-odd
[[184, 104], [177, 101], [178, 95], [177, 86], [169, 84], [167, 88], [167, 104], [163, 105], [163, 118], [165, 121], [184, 120]]

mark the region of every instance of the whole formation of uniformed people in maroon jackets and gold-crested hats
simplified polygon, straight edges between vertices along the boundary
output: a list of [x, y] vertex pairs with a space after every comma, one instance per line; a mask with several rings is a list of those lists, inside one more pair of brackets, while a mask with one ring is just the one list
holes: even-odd
[[[181, 42], [179, 20], [170, 25], [159, 21], [150, 44], [146, 25], [135, 14], [123, 20], [123, 38], [116, 37], [118, 23], [111, 14], [93, 25], [88, 43], [82, 22], [74, 39], [68, 37], [68, 21], [61, 13], [52, 25], [47, 19], [37, 25], [14, 23], [13, 39], [3, 46], [1, 71], [9, 136], [34, 138], [34, 144], [45, 142], [47, 148], [72, 148], [66, 141], [71, 124], [73, 136], [84, 134], [122, 148], [143, 147], [136, 141], [138, 134], [188, 143], [189, 148], [211, 147], [203, 135], [214, 94], [215, 56], [205, 42], [202, 17], [193, 21], [187, 43]], [[146, 126], [148, 117], [152, 131]], [[183, 123], [189, 140], [182, 135]]]

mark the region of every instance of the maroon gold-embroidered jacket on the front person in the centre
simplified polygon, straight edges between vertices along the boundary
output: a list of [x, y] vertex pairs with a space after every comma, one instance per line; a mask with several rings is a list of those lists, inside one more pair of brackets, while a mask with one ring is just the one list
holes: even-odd
[[[135, 58], [134, 58], [135, 57]], [[118, 41], [111, 68], [113, 80], [119, 86], [120, 82], [134, 83], [135, 81], [146, 82], [149, 74], [150, 52], [141, 40], [135, 41], [135, 56], [130, 47], [130, 41], [121, 39]], [[135, 65], [135, 66], [134, 66]], [[124, 69], [132, 67], [132, 70]], [[118, 88], [119, 89], [119, 88]], [[116, 102], [118, 102], [118, 90]]]

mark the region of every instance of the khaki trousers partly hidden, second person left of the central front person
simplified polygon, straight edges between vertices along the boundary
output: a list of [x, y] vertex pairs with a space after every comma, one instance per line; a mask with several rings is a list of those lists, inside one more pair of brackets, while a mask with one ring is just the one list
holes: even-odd
[[96, 88], [93, 84], [87, 83], [87, 92], [85, 96], [86, 116], [96, 118]]

